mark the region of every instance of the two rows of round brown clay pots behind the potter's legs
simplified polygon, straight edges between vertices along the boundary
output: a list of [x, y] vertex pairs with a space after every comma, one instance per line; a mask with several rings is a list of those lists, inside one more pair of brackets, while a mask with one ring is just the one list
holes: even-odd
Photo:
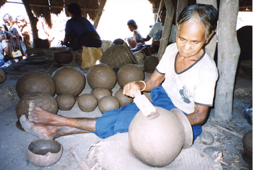
[[[85, 87], [86, 78], [92, 88], [92, 94], [81, 94]], [[117, 73], [106, 64], [91, 67], [84, 76], [75, 67], [60, 67], [52, 74], [31, 72], [22, 76], [16, 84], [20, 101], [16, 106], [17, 117], [28, 116], [29, 103], [32, 101], [44, 110], [57, 114], [60, 110], [71, 110], [76, 103], [82, 111], [90, 112], [99, 106], [100, 112], [122, 108], [132, 103], [131, 97], [122, 94], [122, 88], [131, 81], [144, 80], [143, 71], [133, 64], [123, 66]], [[111, 90], [116, 85], [121, 89], [112, 96]], [[58, 95], [56, 99], [53, 97]]]

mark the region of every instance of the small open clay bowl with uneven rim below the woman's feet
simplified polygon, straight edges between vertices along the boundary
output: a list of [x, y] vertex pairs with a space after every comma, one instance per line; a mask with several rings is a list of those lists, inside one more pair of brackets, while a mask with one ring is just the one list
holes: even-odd
[[36, 166], [51, 166], [63, 153], [63, 147], [58, 141], [37, 139], [31, 141], [27, 148], [27, 157]]

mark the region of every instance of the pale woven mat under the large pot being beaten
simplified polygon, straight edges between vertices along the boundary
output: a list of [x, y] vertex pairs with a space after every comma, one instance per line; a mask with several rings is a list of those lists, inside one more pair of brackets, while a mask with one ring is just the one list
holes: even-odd
[[93, 145], [88, 155], [88, 162], [93, 162], [93, 169], [136, 170], [136, 169], [177, 169], [177, 170], [216, 170], [222, 169], [216, 157], [209, 157], [199, 148], [192, 145], [183, 149], [171, 164], [164, 167], [147, 166], [138, 160], [130, 150], [128, 133], [116, 134]]

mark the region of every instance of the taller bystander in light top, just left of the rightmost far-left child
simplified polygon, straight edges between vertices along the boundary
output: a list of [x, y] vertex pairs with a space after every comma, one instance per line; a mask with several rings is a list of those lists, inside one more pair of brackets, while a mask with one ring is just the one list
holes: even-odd
[[11, 31], [13, 34], [13, 38], [10, 39], [11, 51], [17, 52], [17, 50], [20, 50], [20, 52], [22, 53], [22, 56], [27, 56], [25, 53], [27, 48], [25, 43], [22, 40], [23, 39], [22, 33], [18, 25], [16, 24], [15, 20], [13, 19], [13, 17], [8, 13], [6, 13], [3, 17], [3, 21], [8, 27], [7, 31]]

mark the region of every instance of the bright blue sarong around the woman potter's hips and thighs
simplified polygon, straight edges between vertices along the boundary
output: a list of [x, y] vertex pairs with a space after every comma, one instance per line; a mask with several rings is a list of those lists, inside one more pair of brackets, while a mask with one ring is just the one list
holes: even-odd
[[[154, 106], [159, 106], [166, 110], [176, 108], [161, 85], [152, 89], [150, 92], [150, 97]], [[102, 117], [98, 118], [96, 122], [97, 132], [93, 133], [100, 138], [108, 138], [109, 136], [113, 136], [117, 133], [128, 132], [129, 125], [138, 111], [139, 108], [135, 103], [127, 104], [121, 109], [106, 111]], [[188, 114], [184, 113], [184, 115]], [[194, 137], [193, 139], [195, 140], [196, 137], [201, 134], [202, 126], [193, 126], [192, 130]]]

